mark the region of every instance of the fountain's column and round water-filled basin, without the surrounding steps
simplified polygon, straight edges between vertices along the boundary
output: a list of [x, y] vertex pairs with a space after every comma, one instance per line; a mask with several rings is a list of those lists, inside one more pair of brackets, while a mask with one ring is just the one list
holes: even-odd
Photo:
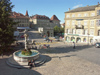
[[25, 34], [24, 34], [24, 37], [25, 37], [25, 50], [23, 52], [26, 52], [26, 54], [29, 54], [28, 55], [23, 55], [22, 54], [22, 50], [19, 50], [19, 51], [16, 51], [13, 53], [13, 56], [14, 56], [14, 59], [15, 61], [17, 62], [28, 62], [28, 60], [36, 60], [39, 58], [39, 52], [36, 51], [36, 50], [28, 50], [28, 33], [27, 33], [27, 30], [25, 30]]

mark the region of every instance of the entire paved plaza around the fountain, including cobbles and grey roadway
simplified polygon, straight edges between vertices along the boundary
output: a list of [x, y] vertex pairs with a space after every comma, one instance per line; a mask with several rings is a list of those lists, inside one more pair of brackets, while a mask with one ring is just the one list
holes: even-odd
[[[36, 32], [36, 31], [35, 31]], [[37, 42], [44, 42], [39, 34], [32, 36]], [[36, 38], [38, 37], [38, 38]], [[19, 42], [24, 42], [19, 39]], [[37, 45], [38, 46], [38, 45]], [[15, 48], [19, 50], [20, 47]], [[17, 69], [6, 64], [6, 60], [12, 56], [0, 56], [0, 75], [100, 75], [100, 50], [92, 45], [57, 42], [50, 44], [49, 49], [38, 49], [45, 55], [46, 62], [32, 69]]]

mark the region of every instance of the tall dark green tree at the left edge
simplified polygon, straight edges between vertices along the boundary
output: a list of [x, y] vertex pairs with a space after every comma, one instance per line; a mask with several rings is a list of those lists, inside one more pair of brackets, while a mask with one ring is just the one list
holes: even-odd
[[15, 22], [10, 18], [14, 5], [10, 0], [0, 0], [0, 49], [7, 50], [14, 41]]

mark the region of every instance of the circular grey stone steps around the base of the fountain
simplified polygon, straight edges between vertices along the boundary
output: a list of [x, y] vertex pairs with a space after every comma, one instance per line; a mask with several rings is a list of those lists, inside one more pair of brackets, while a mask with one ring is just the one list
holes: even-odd
[[[46, 62], [46, 56], [45, 55], [40, 55], [40, 58], [35, 60], [36, 67], [44, 64]], [[6, 63], [11, 66], [11, 67], [16, 67], [16, 68], [29, 68], [28, 62], [16, 62], [13, 57], [8, 58]]]

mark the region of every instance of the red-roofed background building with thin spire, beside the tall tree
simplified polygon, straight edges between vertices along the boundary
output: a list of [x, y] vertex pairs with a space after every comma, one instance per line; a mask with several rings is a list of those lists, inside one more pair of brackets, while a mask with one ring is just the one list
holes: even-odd
[[10, 18], [13, 18], [15, 22], [19, 22], [18, 24], [13, 25], [13, 27], [16, 29], [17, 27], [30, 27], [28, 11], [26, 11], [25, 15], [12, 12]]

